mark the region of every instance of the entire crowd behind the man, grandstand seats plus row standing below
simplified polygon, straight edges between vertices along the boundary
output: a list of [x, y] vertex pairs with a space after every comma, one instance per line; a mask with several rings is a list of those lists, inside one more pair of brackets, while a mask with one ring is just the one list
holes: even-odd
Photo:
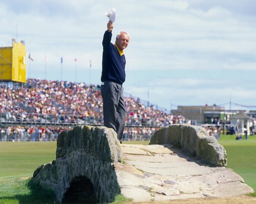
[[[14, 122], [25, 126], [0, 128], [0, 140], [54, 140], [64, 129], [58, 128], [63, 123], [103, 125], [102, 107], [99, 85], [40, 79], [27, 79], [23, 85], [2, 83], [0, 124]], [[143, 105], [140, 99], [133, 97], [125, 97], [125, 108], [125, 139], [141, 139], [142, 135], [149, 138], [155, 127], [185, 122], [183, 116], [173, 116], [153, 105]], [[40, 122], [45, 126], [35, 125]]]

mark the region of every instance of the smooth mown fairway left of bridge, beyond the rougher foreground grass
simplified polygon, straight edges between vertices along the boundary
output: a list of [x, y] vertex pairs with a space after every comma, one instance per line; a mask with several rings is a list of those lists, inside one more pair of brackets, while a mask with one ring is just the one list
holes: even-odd
[[55, 159], [56, 142], [0, 142], [0, 177], [33, 172]]

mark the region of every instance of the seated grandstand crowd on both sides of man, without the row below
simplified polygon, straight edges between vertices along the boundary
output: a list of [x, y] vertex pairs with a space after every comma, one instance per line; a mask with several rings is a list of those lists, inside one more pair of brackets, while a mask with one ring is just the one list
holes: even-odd
[[[0, 113], [5, 119], [35, 121], [45, 117], [56, 122], [77, 118], [103, 124], [102, 97], [99, 85], [28, 79], [24, 86], [0, 88]], [[163, 127], [183, 123], [182, 116], [145, 107], [140, 100], [125, 98], [126, 124]]]

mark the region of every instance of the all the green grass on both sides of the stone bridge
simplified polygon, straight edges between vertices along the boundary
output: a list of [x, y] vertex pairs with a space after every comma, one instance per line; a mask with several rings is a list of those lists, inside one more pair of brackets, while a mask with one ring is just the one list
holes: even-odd
[[[124, 141], [124, 144], [148, 144], [149, 141]], [[227, 167], [244, 178], [256, 191], [256, 136], [235, 140], [222, 135], [219, 143], [227, 151]], [[31, 175], [41, 164], [55, 159], [56, 142], [0, 142], [0, 204], [54, 203], [51, 191], [33, 185]], [[250, 193], [256, 197], [256, 193]], [[117, 195], [114, 204], [126, 198]]]

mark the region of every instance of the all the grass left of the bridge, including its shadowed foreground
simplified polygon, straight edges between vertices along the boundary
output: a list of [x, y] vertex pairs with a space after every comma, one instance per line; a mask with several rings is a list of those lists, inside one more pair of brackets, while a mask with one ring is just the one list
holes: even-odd
[[55, 150], [56, 142], [0, 142], [0, 204], [55, 203], [53, 192], [30, 182]]

